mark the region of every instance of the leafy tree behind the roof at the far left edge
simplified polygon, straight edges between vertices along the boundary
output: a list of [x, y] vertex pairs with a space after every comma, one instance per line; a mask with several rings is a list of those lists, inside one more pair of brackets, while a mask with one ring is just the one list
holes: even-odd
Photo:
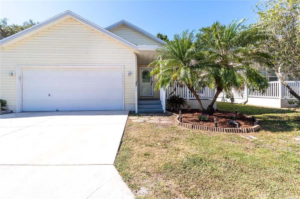
[[24, 22], [23, 25], [16, 25], [16, 24], [7, 25], [7, 21], [8, 21], [7, 18], [0, 19], [0, 31], [1, 31], [0, 36], [4, 38], [37, 24], [31, 19], [29, 19], [28, 22]]

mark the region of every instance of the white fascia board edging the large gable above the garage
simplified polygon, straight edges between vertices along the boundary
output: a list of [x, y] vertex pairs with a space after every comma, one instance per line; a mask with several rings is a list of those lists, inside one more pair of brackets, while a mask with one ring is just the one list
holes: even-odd
[[110, 31], [108, 31], [108, 30], [106, 30], [106, 29], [104, 29], [104, 28], [102, 28], [102, 27], [100, 27], [100, 26], [98, 26], [98, 25], [96, 25], [96, 24], [88, 21], [87, 19], [82, 18], [79, 15], [76, 15], [75, 13], [71, 12], [70, 10], [67, 10], [67, 11], [65, 11], [65, 12], [63, 12], [61, 14], [58, 14], [58, 15], [50, 18], [50, 19], [45, 20], [44, 22], [38, 23], [38, 24], [36, 24], [36, 25], [34, 25], [32, 27], [29, 27], [29, 28], [27, 28], [25, 30], [22, 30], [22, 31], [20, 31], [20, 32], [18, 32], [16, 34], [13, 34], [13, 35], [11, 35], [9, 37], [6, 37], [6, 38], [0, 40], [0, 46], [2, 47], [2, 45], [3, 45], [2, 48], [4, 48], [4, 47], [6, 47], [6, 46], [4, 46], [4, 44], [6, 42], [9, 42], [9, 41], [11, 41], [13, 39], [16, 39], [16, 38], [18, 38], [18, 37], [20, 37], [20, 36], [22, 36], [22, 35], [24, 35], [26, 33], [29, 33], [30, 31], [34, 31], [34, 30], [36, 30], [36, 29], [38, 29], [38, 28], [40, 28], [42, 26], [45, 26], [45, 25], [47, 25], [49, 23], [52, 23], [52, 22], [54, 22], [54, 21], [56, 21], [56, 20], [58, 20], [58, 19], [60, 19], [60, 18], [62, 18], [64, 16], [68, 16], [68, 15], [71, 18], [75, 19], [76, 21], [79, 21], [79, 22], [81, 22], [81, 23], [83, 23], [83, 24], [85, 24], [85, 25], [87, 25], [87, 26], [89, 26], [89, 27], [97, 30], [98, 32], [101, 32], [102, 34], [104, 34], [104, 35], [106, 35], [106, 36], [108, 36], [108, 37], [110, 37], [110, 38], [112, 38], [112, 39], [114, 39], [114, 40], [116, 40], [116, 41], [118, 41], [118, 42], [120, 42], [120, 43], [128, 46], [129, 48], [132, 48], [134, 50], [138, 49], [137, 45], [135, 45], [135, 44], [127, 41], [126, 39], [123, 39], [122, 37], [120, 37], [120, 36], [118, 36], [118, 35], [110, 32]]

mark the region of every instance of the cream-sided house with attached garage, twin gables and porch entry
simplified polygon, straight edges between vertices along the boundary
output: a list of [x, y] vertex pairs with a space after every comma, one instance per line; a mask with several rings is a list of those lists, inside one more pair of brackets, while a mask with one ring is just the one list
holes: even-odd
[[0, 98], [14, 112], [164, 112], [147, 67], [164, 45], [124, 20], [107, 28], [66, 11], [0, 41]]

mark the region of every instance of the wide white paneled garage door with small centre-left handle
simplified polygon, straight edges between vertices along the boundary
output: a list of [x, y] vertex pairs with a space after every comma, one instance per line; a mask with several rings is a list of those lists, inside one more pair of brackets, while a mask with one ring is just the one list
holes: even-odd
[[23, 68], [23, 111], [122, 110], [122, 68]]

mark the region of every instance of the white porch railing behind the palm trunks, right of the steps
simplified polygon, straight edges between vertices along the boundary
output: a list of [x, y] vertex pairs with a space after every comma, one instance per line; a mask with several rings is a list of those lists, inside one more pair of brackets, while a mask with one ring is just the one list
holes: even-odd
[[[174, 85], [171, 85], [166, 90], [166, 98], [169, 97], [169, 95], [174, 91]], [[215, 90], [212, 90], [208, 87], [201, 88], [200, 90], [196, 91], [197, 95], [200, 99], [212, 99], [216, 93]], [[186, 100], [194, 100], [196, 97], [192, 94], [192, 92], [187, 88], [187, 86], [179, 86], [176, 84], [176, 91], [174, 92], [174, 95], [179, 95], [180, 97], [183, 97]]]

